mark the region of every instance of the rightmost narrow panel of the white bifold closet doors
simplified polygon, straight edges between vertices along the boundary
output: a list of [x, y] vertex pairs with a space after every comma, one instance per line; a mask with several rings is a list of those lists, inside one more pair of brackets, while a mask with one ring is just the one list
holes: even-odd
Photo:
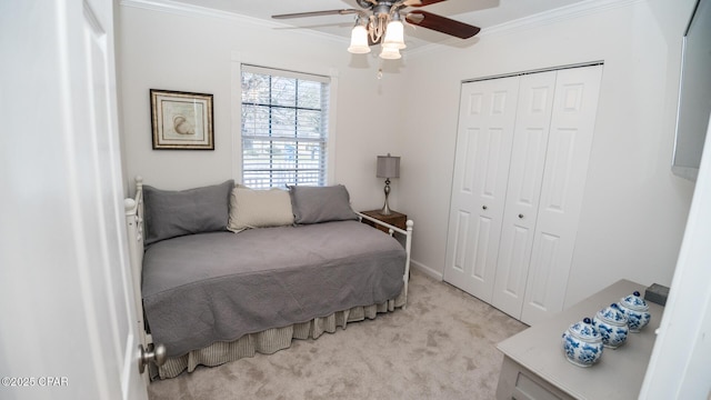
[[558, 71], [521, 321], [563, 309], [592, 147], [602, 66]]

